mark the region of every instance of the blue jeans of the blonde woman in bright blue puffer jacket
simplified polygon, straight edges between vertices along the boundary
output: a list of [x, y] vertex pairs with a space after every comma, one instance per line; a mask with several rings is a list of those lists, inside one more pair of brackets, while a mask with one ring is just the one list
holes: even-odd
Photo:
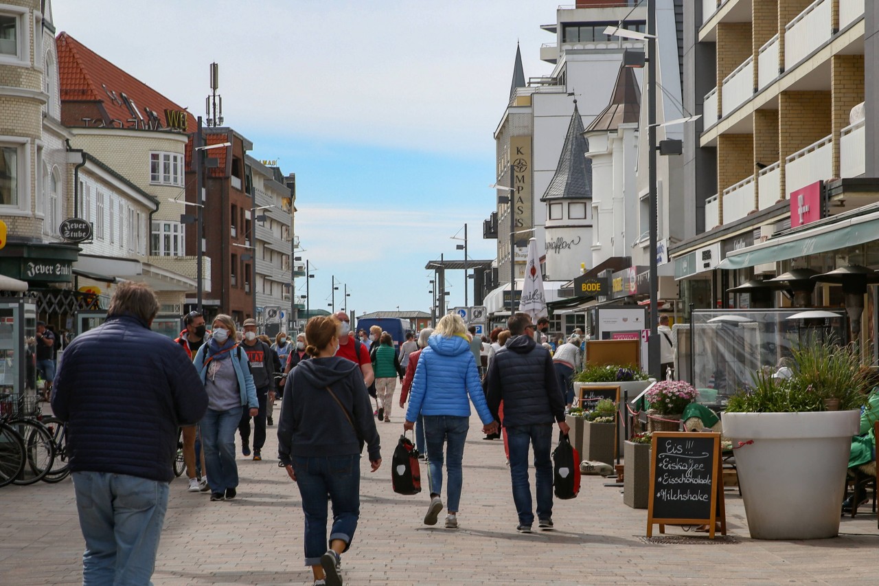
[[448, 499], [446, 508], [458, 512], [461, 503], [461, 460], [464, 458], [464, 442], [470, 429], [470, 418], [454, 415], [425, 415], [425, 443], [430, 458], [427, 464], [427, 480], [431, 494], [442, 494], [443, 443], [446, 448], [446, 472], [448, 473]]

